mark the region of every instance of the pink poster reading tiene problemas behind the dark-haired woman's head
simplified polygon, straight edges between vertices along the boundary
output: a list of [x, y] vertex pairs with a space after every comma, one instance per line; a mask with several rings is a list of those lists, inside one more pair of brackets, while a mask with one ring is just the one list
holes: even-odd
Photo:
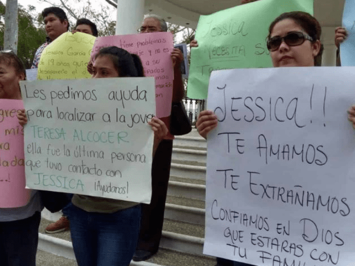
[[146, 77], [155, 78], [156, 116], [166, 117], [171, 112], [173, 97], [173, 62], [170, 53], [174, 48], [173, 34], [156, 32], [115, 35], [96, 38], [91, 60], [102, 47], [117, 46], [140, 57]]

